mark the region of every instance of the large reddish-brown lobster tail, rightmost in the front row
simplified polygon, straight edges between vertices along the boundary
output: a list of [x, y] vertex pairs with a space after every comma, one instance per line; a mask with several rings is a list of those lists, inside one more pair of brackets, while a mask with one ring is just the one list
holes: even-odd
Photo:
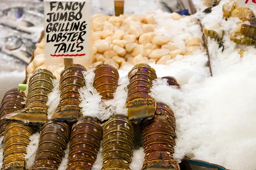
[[175, 145], [175, 117], [171, 108], [157, 102], [153, 119], [143, 126], [145, 161], [142, 170], [179, 170], [173, 158]]

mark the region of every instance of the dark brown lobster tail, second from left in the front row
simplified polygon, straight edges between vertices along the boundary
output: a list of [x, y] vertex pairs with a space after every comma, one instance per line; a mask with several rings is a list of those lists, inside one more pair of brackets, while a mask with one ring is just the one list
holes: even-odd
[[30, 170], [58, 170], [70, 139], [70, 126], [49, 121], [42, 128], [35, 163]]

